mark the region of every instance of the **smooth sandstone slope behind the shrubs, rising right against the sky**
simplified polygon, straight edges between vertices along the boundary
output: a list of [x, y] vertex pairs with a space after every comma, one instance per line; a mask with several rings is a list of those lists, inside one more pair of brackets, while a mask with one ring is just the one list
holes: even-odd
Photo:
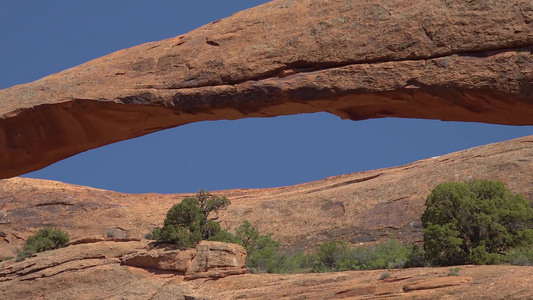
[[[232, 204], [223, 228], [247, 219], [273, 233], [287, 251], [325, 240], [367, 244], [395, 237], [419, 242], [429, 192], [450, 180], [502, 180], [533, 202], [533, 136], [476, 147], [408, 165], [353, 173], [295, 186], [218, 191]], [[0, 181], [0, 257], [11, 256], [37, 228], [64, 228], [74, 239], [142, 238], [190, 194], [121, 194], [61, 182]]]

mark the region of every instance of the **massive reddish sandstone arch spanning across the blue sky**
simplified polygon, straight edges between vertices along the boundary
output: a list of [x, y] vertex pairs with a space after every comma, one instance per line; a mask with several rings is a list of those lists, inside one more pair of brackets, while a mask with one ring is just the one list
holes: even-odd
[[0, 91], [0, 178], [203, 120], [533, 124], [532, 24], [529, 0], [275, 0]]

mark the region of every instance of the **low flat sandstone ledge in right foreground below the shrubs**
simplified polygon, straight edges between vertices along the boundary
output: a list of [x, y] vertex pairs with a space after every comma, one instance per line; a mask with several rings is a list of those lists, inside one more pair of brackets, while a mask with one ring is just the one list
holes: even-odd
[[[530, 299], [533, 268], [517, 266], [461, 267], [464, 278], [448, 278], [448, 268], [389, 270], [400, 281], [379, 280], [383, 270], [325, 274], [246, 274], [192, 282], [217, 299]], [[507, 274], [503, 275], [503, 274]], [[471, 281], [465, 278], [471, 278]], [[405, 292], [420, 280], [453, 281], [447, 286]]]

